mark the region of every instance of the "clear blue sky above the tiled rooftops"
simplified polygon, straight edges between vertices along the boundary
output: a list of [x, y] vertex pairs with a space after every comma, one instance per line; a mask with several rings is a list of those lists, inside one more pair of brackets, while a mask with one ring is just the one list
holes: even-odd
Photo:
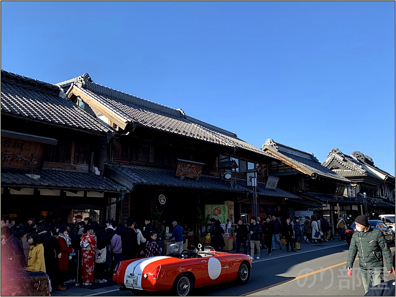
[[1, 69], [94, 82], [395, 176], [395, 2], [1, 1]]

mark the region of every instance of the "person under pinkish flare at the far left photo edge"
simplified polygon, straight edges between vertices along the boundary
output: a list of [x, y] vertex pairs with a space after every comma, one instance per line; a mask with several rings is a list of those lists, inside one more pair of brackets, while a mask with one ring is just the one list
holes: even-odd
[[22, 241], [11, 233], [10, 228], [1, 227], [1, 264], [7, 269], [21, 269], [26, 267], [26, 262]]

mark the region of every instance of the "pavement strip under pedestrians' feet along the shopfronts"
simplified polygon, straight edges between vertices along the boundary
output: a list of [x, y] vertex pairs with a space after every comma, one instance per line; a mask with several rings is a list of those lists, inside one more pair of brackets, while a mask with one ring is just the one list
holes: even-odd
[[[328, 243], [323, 242], [320, 244], [313, 244], [313, 243], [307, 243], [303, 242], [301, 243], [301, 249], [303, 251], [301, 252], [295, 252], [295, 253], [287, 253], [286, 248], [284, 245], [282, 245], [282, 250], [276, 250], [271, 252], [271, 256], [268, 256], [268, 250], [261, 249], [260, 250], [260, 260], [253, 260], [254, 263], [262, 262], [262, 261], [267, 261], [267, 260], [272, 260], [272, 259], [278, 259], [278, 258], [285, 258], [285, 257], [293, 257], [297, 256], [302, 253], [309, 253], [311, 251], [317, 251], [317, 250], [323, 250], [323, 249], [330, 249], [334, 248], [336, 246], [343, 246], [345, 245], [345, 249], [348, 249], [348, 244], [345, 241], [338, 241], [338, 239], [335, 240], [330, 240]], [[235, 253], [235, 249], [230, 251], [229, 253]], [[243, 248], [242, 248], [243, 252]], [[255, 255], [256, 257], [256, 255]], [[78, 287], [75, 286], [75, 284], [66, 284], [67, 289], [65, 291], [52, 291], [52, 296], [55, 297], [61, 297], [61, 296], [97, 296], [106, 292], [116, 292], [119, 289], [119, 286], [116, 285], [111, 277], [106, 278], [108, 280], [107, 283], [104, 284], [92, 284], [89, 287], [85, 287], [84, 285], [80, 284]], [[89, 288], [89, 289], [88, 289]]]

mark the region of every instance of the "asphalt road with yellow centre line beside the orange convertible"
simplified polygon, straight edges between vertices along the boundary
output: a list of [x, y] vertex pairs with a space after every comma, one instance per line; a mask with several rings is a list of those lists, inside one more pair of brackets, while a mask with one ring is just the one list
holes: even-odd
[[[355, 261], [353, 276], [347, 276], [348, 245], [323, 246], [309, 252], [275, 251], [275, 259], [262, 255], [254, 260], [249, 283], [225, 283], [198, 288], [194, 296], [363, 296], [364, 290]], [[392, 250], [394, 251], [394, 245]], [[385, 272], [387, 280], [394, 279]], [[168, 294], [167, 294], [168, 295]], [[133, 296], [130, 292], [109, 292], [97, 296]], [[157, 296], [163, 296], [163, 293]]]

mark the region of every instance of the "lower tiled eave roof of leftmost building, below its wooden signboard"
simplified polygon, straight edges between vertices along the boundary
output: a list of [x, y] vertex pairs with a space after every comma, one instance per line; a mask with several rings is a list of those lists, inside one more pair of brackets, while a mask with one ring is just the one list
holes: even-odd
[[88, 191], [119, 192], [123, 186], [100, 175], [62, 169], [41, 169], [35, 174], [40, 178], [33, 179], [30, 169], [1, 167], [1, 186], [30, 186], [43, 188], [75, 189]]

